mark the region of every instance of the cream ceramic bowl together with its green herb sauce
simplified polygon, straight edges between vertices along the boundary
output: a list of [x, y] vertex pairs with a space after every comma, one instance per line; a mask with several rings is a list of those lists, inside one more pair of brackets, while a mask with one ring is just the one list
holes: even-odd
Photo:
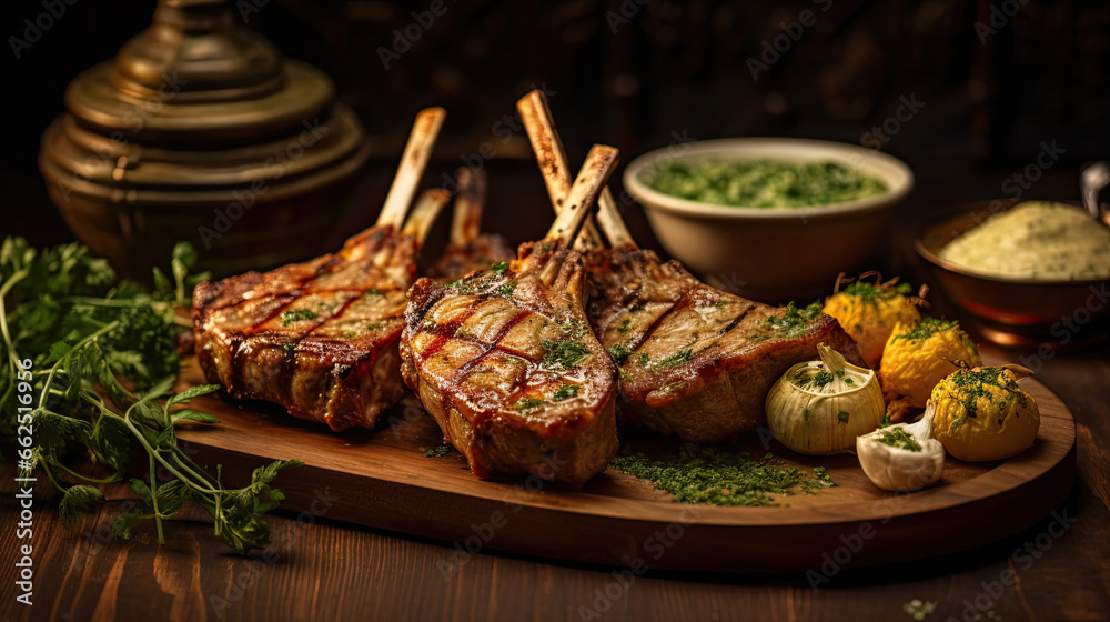
[[881, 151], [796, 138], [670, 144], [623, 180], [670, 257], [768, 302], [828, 293], [837, 273], [868, 263], [914, 187]]

